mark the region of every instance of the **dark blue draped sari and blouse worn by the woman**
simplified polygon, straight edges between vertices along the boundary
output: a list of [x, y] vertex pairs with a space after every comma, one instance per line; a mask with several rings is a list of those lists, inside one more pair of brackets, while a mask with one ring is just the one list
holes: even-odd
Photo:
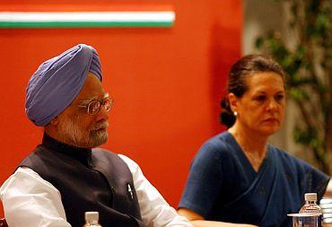
[[268, 144], [258, 172], [229, 132], [209, 139], [191, 164], [179, 207], [210, 221], [292, 226], [304, 194], [323, 196], [329, 177]]

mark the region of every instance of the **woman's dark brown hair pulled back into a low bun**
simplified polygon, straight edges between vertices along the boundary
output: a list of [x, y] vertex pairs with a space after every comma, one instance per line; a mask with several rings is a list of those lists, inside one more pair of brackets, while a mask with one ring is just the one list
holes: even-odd
[[[247, 76], [255, 73], [273, 72], [279, 74], [284, 81], [284, 70], [275, 59], [263, 55], [248, 55], [241, 57], [228, 74], [227, 93], [233, 93], [240, 98], [248, 91]], [[222, 112], [220, 122], [227, 128], [232, 127], [235, 123], [235, 116], [230, 107], [228, 96], [224, 96], [221, 102]]]

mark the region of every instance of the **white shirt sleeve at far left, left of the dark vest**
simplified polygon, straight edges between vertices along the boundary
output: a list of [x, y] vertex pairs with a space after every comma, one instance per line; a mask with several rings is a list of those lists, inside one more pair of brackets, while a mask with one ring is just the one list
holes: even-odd
[[10, 227], [70, 227], [57, 188], [29, 168], [18, 168], [0, 188]]

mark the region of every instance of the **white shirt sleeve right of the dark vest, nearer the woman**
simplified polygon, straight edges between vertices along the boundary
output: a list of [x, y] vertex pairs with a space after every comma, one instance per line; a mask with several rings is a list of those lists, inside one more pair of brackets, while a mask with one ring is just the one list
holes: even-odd
[[188, 220], [180, 216], [144, 177], [139, 166], [125, 155], [118, 156], [127, 163], [133, 175], [138, 204], [141, 208], [142, 220], [149, 227], [192, 227]]

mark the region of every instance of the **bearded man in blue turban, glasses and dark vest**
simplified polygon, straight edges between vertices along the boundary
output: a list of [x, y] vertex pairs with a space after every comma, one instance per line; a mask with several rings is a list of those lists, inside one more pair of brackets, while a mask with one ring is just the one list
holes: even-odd
[[42, 143], [4, 182], [11, 227], [80, 227], [97, 211], [102, 226], [192, 226], [124, 155], [96, 148], [108, 139], [113, 100], [102, 87], [100, 59], [79, 44], [39, 66], [27, 87], [28, 118]]

